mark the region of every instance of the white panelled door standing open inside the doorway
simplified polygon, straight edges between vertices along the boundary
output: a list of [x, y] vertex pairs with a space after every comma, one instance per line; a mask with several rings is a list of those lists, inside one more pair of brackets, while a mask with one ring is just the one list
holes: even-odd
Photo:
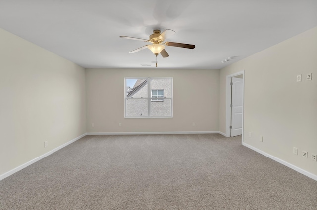
[[232, 77], [231, 88], [231, 136], [242, 134], [243, 79]]

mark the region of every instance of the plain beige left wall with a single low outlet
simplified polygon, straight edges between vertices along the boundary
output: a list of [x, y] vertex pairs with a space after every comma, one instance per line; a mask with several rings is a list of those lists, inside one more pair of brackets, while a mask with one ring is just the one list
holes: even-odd
[[2, 29], [0, 37], [1, 175], [86, 133], [86, 113], [85, 69]]

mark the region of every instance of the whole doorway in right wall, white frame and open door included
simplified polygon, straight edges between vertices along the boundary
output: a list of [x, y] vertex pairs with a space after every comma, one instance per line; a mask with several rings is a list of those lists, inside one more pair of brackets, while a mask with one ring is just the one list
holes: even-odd
[[227, 76], [226, 84], [226, 137], [242, 135], [244, 71]]

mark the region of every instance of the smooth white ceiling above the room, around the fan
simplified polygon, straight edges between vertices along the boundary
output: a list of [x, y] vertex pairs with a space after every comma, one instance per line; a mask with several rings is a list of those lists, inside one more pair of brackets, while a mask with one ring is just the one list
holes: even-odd
[[121, 35], [172, 29], [196, 48], [167, 46], [158, 68], [221, 69], [315, 26], [317, 0], [0, 0], [0, 28], [85, 68], [155, 68]]

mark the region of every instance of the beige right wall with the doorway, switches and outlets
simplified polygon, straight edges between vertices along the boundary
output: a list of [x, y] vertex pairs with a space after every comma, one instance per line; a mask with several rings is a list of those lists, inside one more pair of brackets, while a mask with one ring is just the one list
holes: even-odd
[[[244, 143], [317, 175], [317, 162], [310, 159], [317, 154], [317, 27], [220, 70], [219, 127], [224, 133], [226, 76], [242, 70]], [[307, 73], [313, 73], [312, 81], [306, 81]], [[302, 82], [296, 82], [299, 74]], [[309, 158], [301, 156], [303, 150]]]

